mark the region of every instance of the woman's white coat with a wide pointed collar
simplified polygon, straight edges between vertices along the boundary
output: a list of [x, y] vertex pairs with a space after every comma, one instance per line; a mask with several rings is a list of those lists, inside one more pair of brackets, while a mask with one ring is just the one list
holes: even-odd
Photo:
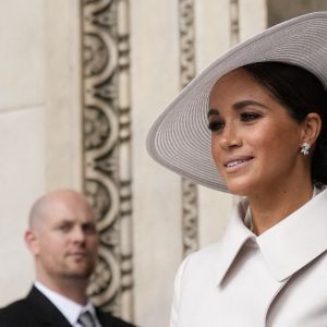
[[181, 264], [170, 327], [327, 327], [327, 190], [259, 237], [246, 210]]

